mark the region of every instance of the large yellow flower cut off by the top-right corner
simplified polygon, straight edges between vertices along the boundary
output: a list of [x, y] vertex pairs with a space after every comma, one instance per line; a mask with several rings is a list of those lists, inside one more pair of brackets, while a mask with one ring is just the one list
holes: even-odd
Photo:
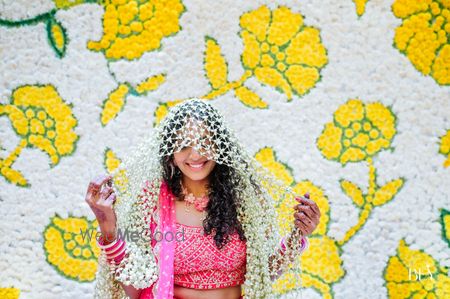
[[450, 2], [448, 0], [396, 0], [392, 11], [402, 24], [394, 45], [414, 67], [438, 84], [450, 84]]

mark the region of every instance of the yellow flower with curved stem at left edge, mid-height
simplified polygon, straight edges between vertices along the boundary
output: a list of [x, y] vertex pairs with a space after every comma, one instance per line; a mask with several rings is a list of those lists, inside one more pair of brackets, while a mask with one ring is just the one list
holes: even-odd
[[78, 135], [73, 131], [77, 120], [72, 106], [64, 103], [55, 87], [21, 86], [14, 90], [10, 104], [0, 104], [0, 116], [7, 115], [12, 127], [22, 139], [10, 156], [0, 160], [0, 172], [10, 182], [26, 186], [23, 175], [11, 169], [11, 165], [25, 147], [44, 151], [51, 166], [62, 156], [75, 150]]

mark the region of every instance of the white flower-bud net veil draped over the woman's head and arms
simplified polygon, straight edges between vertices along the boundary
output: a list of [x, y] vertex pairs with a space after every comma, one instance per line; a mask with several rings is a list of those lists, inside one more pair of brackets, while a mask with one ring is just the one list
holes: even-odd
[[[278, 224], [281, 219], [275, 204], [293, 200], [296, 195], [246, 152], [222, 115], [207, 100], [192, 98], [172, 107], [163, 121], [112, 173], [118, 198], [114, 204], [117, 227], [148, 236], [151, 217], [157, 222], [156, 229], [160, 227], [158, 197], [163, 183], [162, 163], [164, 158], [186, 146], [235, 170], [238, 220], [247, 240], [245, 297], [272, 298], [286, 291], [301, 290], [300, 255], [289, 264], [276, 254], [280, 246]], [[282, 221], [288, 221], [292, 230], [293, 220], [294, 217]], [[148, 288], [155, 283], [153, 289], [158, 289], [163, 266], [158, 258], [160, 242], [152, 247], [147, 238], [126, 241], [127, 254], [118, 265], [111, 267], [101, 253], [95, 298], [127, 298], [118, 281], [135, 288]], [[288, 247], [285, 256], [296, 255], [300, 242], [294, 243], [296, 248], [291, 251]], [[285, 270], [281, 276], [280, 269]]]

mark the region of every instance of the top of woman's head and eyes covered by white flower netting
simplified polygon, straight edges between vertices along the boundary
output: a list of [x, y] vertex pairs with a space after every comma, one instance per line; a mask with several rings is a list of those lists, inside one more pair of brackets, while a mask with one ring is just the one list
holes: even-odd
[[[237, 144], [222, 115], [205, 100], [193, 98], [174, 106], [159, 126], [160, 156], [185, 147], [219, 164], [233, 165]], [[234, 158], [233, 158], [234, 157]]]

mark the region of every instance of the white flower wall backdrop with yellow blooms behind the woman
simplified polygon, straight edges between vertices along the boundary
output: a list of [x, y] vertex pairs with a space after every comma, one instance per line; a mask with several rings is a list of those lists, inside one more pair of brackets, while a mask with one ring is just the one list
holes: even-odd
[[88, 182], [190, 97], [320, 206], [303, 298], [450, 298], [450, 1], [2, 0], [0, 70], [0, 298], [92, 296]]

